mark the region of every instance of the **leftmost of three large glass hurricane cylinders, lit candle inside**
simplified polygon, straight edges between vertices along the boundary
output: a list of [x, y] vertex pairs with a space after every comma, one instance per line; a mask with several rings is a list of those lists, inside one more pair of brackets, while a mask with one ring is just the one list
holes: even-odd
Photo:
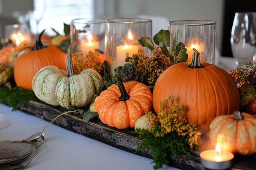
[[[103, 18], [79, 18], [71, 21], [71, 43], [76, 42], [74, 51], [82, 51], [84, 55], [89, 51], [99, 50], [105, 53], [106, 20]], [[105, 60], [105, 55], [101, 55]]]

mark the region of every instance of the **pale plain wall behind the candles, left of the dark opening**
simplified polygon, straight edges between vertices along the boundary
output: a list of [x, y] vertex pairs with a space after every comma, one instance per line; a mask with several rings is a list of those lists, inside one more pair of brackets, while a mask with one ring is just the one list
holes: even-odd
[[[216, 21], [216, 48], [221, 51], [224, 0], [96, 0], [100, 18], [162, 16], [170, 20]], [[159, 25], [159, 23], [154, 23]], [[167, 29], [167, 23], [162, 29]]]

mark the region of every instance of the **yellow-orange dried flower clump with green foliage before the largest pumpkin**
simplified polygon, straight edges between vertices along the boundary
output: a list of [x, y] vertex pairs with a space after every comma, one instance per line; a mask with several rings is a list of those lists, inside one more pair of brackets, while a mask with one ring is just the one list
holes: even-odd
[[201, 132], [197, 130], [196, 122], [186, 119], [186, 106], [174, 104], [170, 96], [160, 103], [160, 112], [145, 114], [152, 126], [150, 129], [136, 129], [142, 139], [139, 150], [151, 147], [155, 163], [154, 169], [162, 168], [162, 163], [168, 163], [168, 155], [190, 154], [201, 144]]

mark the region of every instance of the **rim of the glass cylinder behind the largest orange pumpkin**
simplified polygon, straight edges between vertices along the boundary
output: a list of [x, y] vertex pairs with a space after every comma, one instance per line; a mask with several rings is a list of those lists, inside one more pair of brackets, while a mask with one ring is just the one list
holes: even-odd
[[216, 22], [211, 20], [173, 20], [173, 21], [169, 21], [168, 24], [200, 26], [200, 25], [215, 25]]

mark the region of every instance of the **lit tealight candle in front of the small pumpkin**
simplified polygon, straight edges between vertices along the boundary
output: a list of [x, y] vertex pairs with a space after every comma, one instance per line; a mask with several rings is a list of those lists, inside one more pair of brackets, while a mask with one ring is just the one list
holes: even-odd
[[221, 150], [218, 143], [215, 150], [205, 150], [200, 153], [200, 157], [205, 168], [224, 170], [231, 167], [234, 155], [231, 152]]

